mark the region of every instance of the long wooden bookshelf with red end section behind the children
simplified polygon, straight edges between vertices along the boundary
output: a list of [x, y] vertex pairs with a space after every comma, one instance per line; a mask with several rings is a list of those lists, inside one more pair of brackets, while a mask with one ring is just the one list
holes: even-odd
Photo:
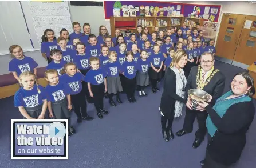
[[[136, 27], [138, 25], [145, 25], [148, 27], [150, 33], [154, 31], [155, 26], [158, 26], [160, 30], [170, 29], [171, 26], [182, 26], [184, 19], [187, 17], [110, 17], [111, 36], [115, 36], [115, 30], [120, 29], [124, 31], [126, 29], [131, 30], [132, 33], [136, 33]], [[187, 18], [191, 19], [195, 23], [200, 23], [203, 26], [203, 19]], [[146, 26], [147, 25], [147, 26]]]

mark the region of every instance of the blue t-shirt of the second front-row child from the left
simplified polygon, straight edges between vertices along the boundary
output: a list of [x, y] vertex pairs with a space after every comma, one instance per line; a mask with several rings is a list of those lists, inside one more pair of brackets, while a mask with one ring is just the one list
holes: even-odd
[[62, 101], [66, 95], [70, 94], [68, 89], [64, 87], [63, 83], [58, 82], [57, 85], [52, 86], [48, 84], [45, 87], [48, 101], [59, 102]]

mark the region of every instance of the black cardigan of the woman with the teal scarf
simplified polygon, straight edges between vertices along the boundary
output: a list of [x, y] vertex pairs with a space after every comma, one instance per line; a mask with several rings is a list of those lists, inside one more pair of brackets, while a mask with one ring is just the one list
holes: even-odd
[[246, 132], [255, 113], [253, 100], [230, 106], [222, 118], [210, 105], [206, 110], [217, 127], [214, 137], [207, 145], [208, 153], [216, 162], [229, 166], [239, 160], [245, 147]]

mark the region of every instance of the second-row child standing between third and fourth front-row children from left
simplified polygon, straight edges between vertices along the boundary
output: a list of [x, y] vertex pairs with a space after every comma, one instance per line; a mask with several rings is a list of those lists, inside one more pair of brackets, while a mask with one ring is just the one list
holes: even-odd
[[[74, 57], [73, 62], [74, 62], [74, 64], [76, 64], [77, 69], [83, 75], [86, 75], [90, 69], [89, 59], [92, 56], [88, 53], [85, 53], [84, 43], [77, 43], [76, 50], [77, 50], [78, 54], [76, 55], [76, 57]], [[90, 95], [89, 95], [88, 85], [85, 81], [82, 81], [82, 92], [85, 93], [88, 103], [93, 103], [92, 97], [90, 97]]]

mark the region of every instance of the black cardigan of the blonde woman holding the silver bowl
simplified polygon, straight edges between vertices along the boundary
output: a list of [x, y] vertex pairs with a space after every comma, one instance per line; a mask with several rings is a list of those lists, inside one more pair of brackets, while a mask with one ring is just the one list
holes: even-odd
[[170, 68], [164, 75], [163, 89], [160, 108], [164, 116], [170, 115], [174, 111], [176, 100], [186, 104], [187, 100], [176, 94], [176, 74]]

